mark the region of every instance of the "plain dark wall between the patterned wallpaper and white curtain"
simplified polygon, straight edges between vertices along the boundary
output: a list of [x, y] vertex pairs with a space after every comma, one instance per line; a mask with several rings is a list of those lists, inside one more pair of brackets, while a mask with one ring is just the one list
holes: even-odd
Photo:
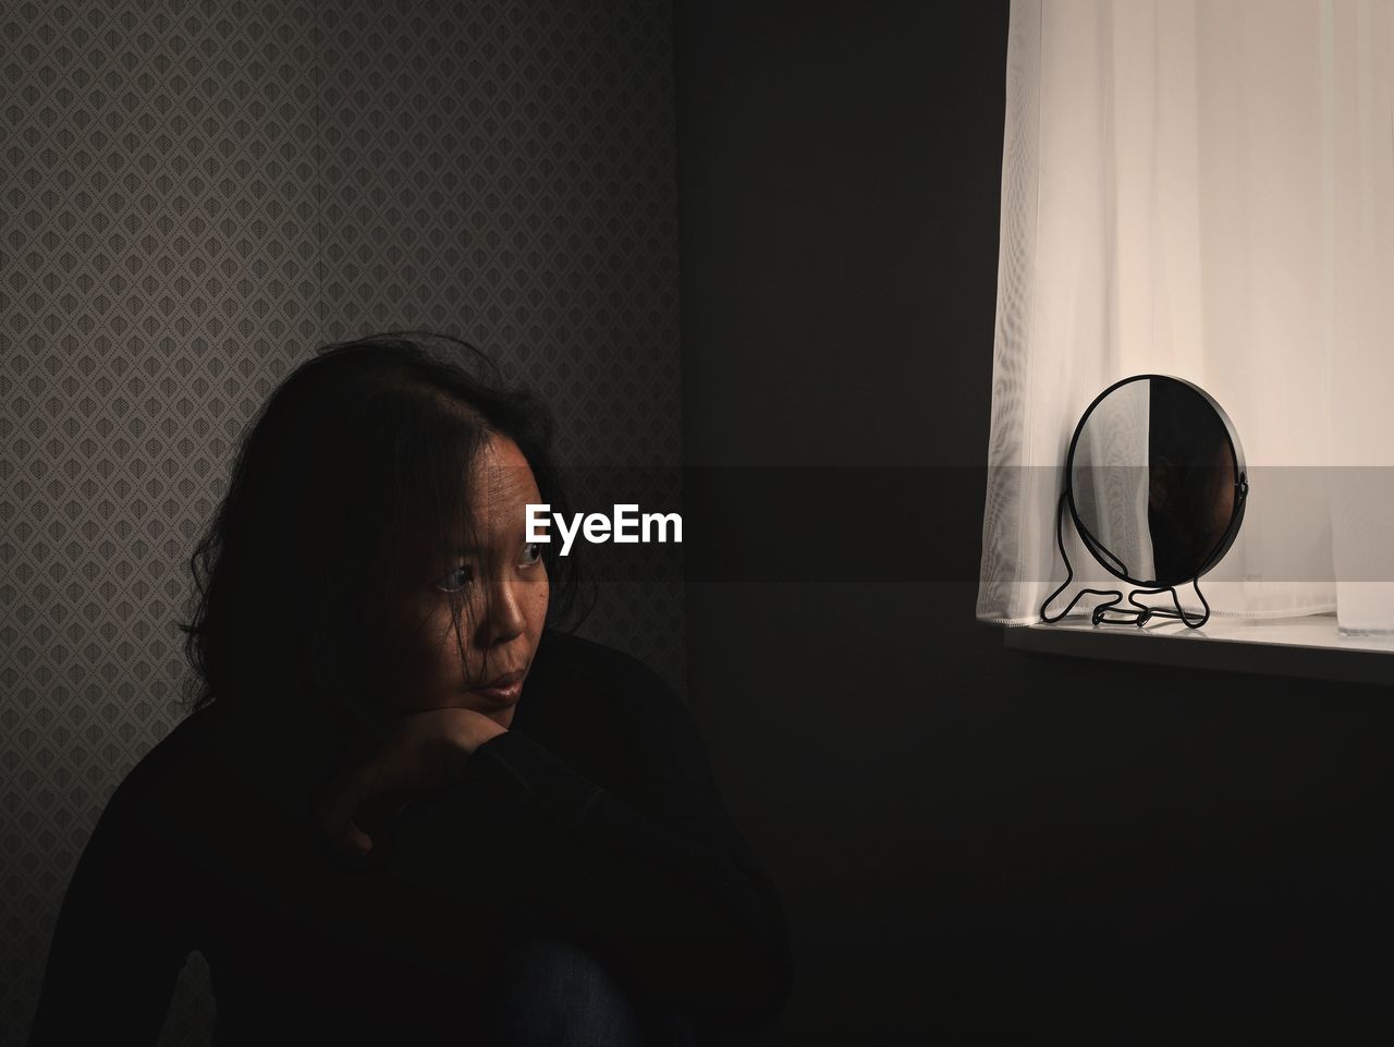
[[744, 565], [689, 584], [687, 664], [793, 927], [765, 1041], [1387, 1034], [1390, 694], [974, 622], [1006, 14], [677, 4], [689, 463], [930, 488], [689, 491]]

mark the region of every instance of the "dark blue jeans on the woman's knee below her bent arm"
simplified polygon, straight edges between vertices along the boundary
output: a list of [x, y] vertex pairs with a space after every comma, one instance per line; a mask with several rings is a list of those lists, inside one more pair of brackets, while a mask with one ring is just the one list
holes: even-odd
[[498, 975], [500, 1047], [696, 1047], [684, 1018], [640, 1000], [590, 952], [537, 924], [506, 935]]

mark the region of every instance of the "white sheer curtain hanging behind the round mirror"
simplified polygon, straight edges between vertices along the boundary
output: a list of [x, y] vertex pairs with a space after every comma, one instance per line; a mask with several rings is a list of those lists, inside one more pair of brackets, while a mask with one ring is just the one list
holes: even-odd
[[[1075, 422], [1150, 372], [1248, 457], [1213, 613], [1394, 629], [1394, 0], [1012, 0], [1006, 95], [979, 618], [1039, 620]], [[1052, 611], [1117, 584], [1064, 534]]]

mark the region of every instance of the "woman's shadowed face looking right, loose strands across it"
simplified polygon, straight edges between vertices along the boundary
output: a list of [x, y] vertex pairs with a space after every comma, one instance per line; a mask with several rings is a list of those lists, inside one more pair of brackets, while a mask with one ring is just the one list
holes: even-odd
[[[542, 500], [517, 445], [491, 436], [470, 471], [474, 549], [441, 549], [406, 598], [410, 683], [403, 712], [468, 708], [513, 722], [551, 594], [542, 549], [527, 542], [527, 505]], [[460, 598], [456, 640], [452, 591]], [[463, 658], [461, 658], [463, 648]], [[491, 686], [492, 685], [492, 686]]]

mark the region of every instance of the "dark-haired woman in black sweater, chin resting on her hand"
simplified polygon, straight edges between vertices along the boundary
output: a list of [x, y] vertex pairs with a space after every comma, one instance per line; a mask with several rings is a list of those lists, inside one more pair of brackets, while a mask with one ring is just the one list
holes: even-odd
[[539, 404], [410, 337], [272, 395], [185, 626], [195, 711], [127, 777], [32, 1044], [159, 1037], [190, 951], [215, 1043], [668, 1043], [767, 1023], [779, 902], [682, 704], [560, 627]]

